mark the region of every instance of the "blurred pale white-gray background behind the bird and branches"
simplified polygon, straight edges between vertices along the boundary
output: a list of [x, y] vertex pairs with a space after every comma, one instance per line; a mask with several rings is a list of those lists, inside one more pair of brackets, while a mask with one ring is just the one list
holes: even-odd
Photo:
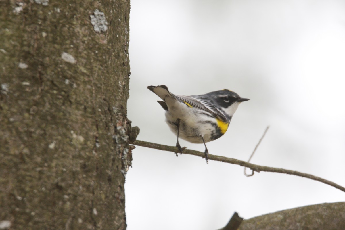
[[[159, 98], [229, 89], [241, 103], [210, 154], [311, 173], [345, 186], [345, 1], [131, 0], [128, 117], [138, 140], [175, 146]], [[180, 140], [204, 151], [203, 144]], [[126, 178], [128, 230], [218, 229], [245, 219], [345, 200], [297, 176], [137, 147]], [[249, 170], [248, 170], [249, 172]]]

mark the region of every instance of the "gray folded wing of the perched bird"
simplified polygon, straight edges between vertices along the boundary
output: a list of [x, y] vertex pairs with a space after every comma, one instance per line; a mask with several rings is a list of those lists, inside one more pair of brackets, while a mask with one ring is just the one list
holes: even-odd
[[212, 101], [207, 100], [203, 96], [182, 96], [182, 95], [174, 95], [178, 100], [187, 104], [187, 106], [193, 106], [205, 112], [208, 112], [218, 118], [221, 121], [226, 122], [227, 118], [224, 113], [219, 111], [212, 103]]

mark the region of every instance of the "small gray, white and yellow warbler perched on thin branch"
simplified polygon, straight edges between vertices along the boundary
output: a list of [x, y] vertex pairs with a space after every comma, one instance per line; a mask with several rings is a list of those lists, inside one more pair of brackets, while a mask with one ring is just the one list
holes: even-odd
[[223, 136], [238, 104], [249, 100], [227, 89], [182, 96], [172, 94], [165, 85], [147, 88], [163, 100], [157, 102], [165, 109], [165, 121], [170, 130], [177, 135], [176, 147], [180, 153], [183, 149], [178, 143], [179, 137], [191, 143], [204, 143], [206, 162], [208, 149], [205, 143]]

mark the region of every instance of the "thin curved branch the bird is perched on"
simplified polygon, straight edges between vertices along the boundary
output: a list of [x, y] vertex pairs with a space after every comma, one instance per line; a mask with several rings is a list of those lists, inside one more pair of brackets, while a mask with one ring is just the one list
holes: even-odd
[[[134, 144], [136, 146], [142, 146], [142, 147], [147, 147], [147, 148], [151, 148], [151, 149], [159, 149], [159, 150], [164, 150], [164, 151], [169, 151], [169, 152], [177, 152], [179, 151], [177, 149], [177, 147], [174, 146], [166, 146], [163, 144], [156, 144], [156, 143], [151, 143], [151, 142], [146, 142], [146, 141], [140, 141], [140, 140], [136, 140], [134, 142], [131, 142], [131, 144]], [[205, 157], [205, 153], [204, 152], [199, 152], [196, 150], [191, 150], [191, 149], [184, 149], [183, 150], [184, 154], [190, 154], [190, 155], [194, 155], [194, 156], [198, 156], [198, 157]], [[309, 178], [312, 180], [316, 180], [325, 184], [328, 184], [334, 188], [337, 188], [343, 192], [345, 192], [345, 188], [340, 186], [339, 184], [336, 184], [332, 181], [323, 179], [321, 177], [317, 177], [314, 176], [312, 174], [308, 174], [308, 173], [303, 173], [303, 172], [298, 172], [298, 171], [294, 171], [294, 170], [288, 170], [288, 169], [282, 169], [282, 168], [273, 168], [273, 167], [268, 167], [268, 166], [260, 166], [257, 164], [252, 164], [246, 161], [242, 161], [242, 160], [237, 160], [234, 158], [229, 158], [229, 157], [223, 157], [223, 156], [218, 156], [218, 155], [213, 155], [213, 154], [208, 154], [208, 158], [209, 160], [214, 160], [214, 161], [220, 161], [220, 162], [224, 162], [224, 163], [230, 163], [230, 164], [237, 164], [239, 166], [243, 166], [243, 167], [247, 167], [252, 169], [253, 171], [256, 172], [260, 172], [260, 171], [264, 171], [264, 172], [278, 172], [278, 173], [285, 173], [285, 174], [290, 174], [290, 175], [295, 175], [295, 176], [299, 176], [299, 177], [305, 177], [305, 178]]]

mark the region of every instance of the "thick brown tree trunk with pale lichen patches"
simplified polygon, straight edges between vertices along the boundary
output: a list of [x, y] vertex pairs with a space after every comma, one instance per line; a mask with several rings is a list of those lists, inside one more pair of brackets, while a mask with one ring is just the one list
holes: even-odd
[[129, 0], [0, 5], [2, 229], [126, 229]]

